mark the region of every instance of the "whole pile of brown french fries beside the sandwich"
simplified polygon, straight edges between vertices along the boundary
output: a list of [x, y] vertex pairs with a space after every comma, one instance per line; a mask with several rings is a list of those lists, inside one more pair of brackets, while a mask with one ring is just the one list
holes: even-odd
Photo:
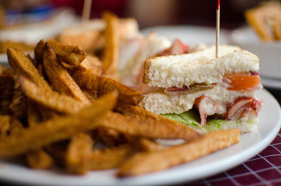
[[[240, 141], [240, 130], [200, 135], [138, 107], [143, 95], [116, 79], [117, 18], [105, 15], [104, 58], [51, 39], [34, 59], [8, 48], [0, 67], [0, 158], [68, 173], [119, 168], [119, 177], [161, 171]], [[167, 147], [156, 139], [183, 139]], [[98, 145], [97, 145], [98, 144]]]

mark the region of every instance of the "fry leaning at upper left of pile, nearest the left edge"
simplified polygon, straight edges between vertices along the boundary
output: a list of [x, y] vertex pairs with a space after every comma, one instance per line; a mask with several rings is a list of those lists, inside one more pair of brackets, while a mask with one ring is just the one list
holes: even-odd
[[33, 65], [29, 58], [17, 49], [8, 48], [7, 50], [8, 62], [14, 69], [16, 74], [21, 74], [33, 81], [37, 86], [41, 86], [46, 90], [51, 90], [47, 81], [42, 77], [37, 68]]

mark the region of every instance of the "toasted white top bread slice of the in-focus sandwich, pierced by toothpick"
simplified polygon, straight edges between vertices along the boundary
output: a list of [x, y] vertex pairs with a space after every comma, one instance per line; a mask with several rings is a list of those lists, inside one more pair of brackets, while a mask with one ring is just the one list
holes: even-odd
[[168, 55], [145, 60], [143, 82], [148, 86], [171, 88], [192, 84], [214, 84], [223, 74], [256, 72], [259, 58], [237, 46], [221, 45], [219, 58], [215, 58], [215, 46], [183, 55]]

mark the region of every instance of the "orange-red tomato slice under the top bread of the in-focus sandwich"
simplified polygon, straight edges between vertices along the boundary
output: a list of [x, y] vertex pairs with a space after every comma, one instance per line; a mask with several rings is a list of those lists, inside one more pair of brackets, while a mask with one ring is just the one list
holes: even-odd
[[259, 74], [229, 74], [223, 77], [223, 83], [228, 84], [228, 91], [254, 91], [259, 89], [261, 78]]

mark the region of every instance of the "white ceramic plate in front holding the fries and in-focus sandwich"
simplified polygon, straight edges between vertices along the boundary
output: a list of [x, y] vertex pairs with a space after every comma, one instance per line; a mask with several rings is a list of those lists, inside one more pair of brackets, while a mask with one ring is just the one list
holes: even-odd
[[18, 164], [0, 161], [0, 179], [27, 185], [167, 185], [204, 178], [241, 164], [261, 152], [275, 138], [281, 125], [280, 105], [268, 91], [257, 91], [265, 104], [259, 114], [257, 131], [242, 135], [237, 145], [182, 164], [166, 171], [136, 178], [115, 177], [116, 170], [91, 171], [83, 176], [59, 171], [36, 171]]

